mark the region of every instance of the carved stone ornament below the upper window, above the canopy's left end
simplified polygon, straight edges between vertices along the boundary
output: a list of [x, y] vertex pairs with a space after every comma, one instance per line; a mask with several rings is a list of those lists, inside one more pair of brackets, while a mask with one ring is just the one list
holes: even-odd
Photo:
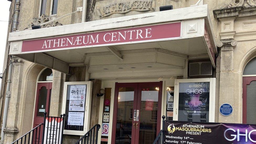
[[[31, 26], [34, 26], [34, 25], [40, 25], [42, 23], [45, 23], [45, 22], [48, 22], [49, 20], [53, 19], [53, 17], [51, 16], [46, 16], [46, 15], [41, 15], [41, 17], [39, 18], [34, 18], [34, 21], [31, 22], [28, 27], [26, 27], [25, 29], [28, 29], [28, 28], [31, 28]], [[48, 24], [45, 24], [45, 25], [42, 25], [41, 28], [49, 28], [49, 27], [53, 27], [53, 26], [60, 26], [62, 24], [58, 23], [57, 21], [53, 21], [53, 22], [50, 22]], [[24, 29], [24, 30], [25, 30]]]

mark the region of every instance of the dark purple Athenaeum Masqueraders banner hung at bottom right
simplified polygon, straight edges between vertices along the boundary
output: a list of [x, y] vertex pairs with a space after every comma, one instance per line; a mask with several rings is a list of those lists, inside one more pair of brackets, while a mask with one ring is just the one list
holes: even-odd
[[256, 125], [166, 121], [165, 144], [256, 143]]

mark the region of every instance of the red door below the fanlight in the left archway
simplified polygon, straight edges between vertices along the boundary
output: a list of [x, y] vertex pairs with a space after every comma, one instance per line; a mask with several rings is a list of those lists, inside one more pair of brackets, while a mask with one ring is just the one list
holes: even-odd
[[[49, 114], [51, 90], [52, 90], [52, 83], [37, 84], [33, 127], [36, 127], [39, 124], [44, 122], [44, 112], [47, 112], [47, 114]], [[42, 134], [42, 129], [40, 130], [40, 133]], [[39, 135], [39, 130], [38, 130], [38, 134], [36, 136], [37, 140], [39, 136], [40, 136], [39, 141], [41, 142], [42, 135]], [[35, 135], [34, 135], [33, 141], [35, 141]]]

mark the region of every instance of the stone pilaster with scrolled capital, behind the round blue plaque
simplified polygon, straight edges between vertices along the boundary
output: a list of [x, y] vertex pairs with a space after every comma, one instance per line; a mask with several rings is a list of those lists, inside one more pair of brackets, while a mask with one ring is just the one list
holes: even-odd
[[[221, 39], [217, 46], [220, 47], [220, 93], [219, 105], [224, 103], [234, 103], [234, 47], [237, 41], [234, 39]], [[235, 111], [235, 109], [234, 109]], [[230, 116], [222, 116], [219, 114], [218, 122], [232, 123], [235, 120], [234, 113]]]

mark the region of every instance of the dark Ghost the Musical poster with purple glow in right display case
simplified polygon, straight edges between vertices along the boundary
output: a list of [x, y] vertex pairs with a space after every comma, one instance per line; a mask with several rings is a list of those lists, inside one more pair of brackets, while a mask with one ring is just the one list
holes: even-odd
[[179, 84], [178, 120], [209, 122], [210, 82]]

